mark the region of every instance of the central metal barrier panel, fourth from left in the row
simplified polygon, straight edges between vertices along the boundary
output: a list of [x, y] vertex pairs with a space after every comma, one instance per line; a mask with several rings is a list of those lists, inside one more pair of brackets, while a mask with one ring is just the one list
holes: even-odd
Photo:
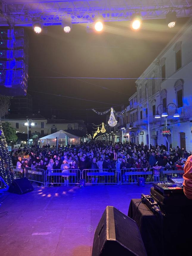
[[116, 169], [84, 169], [82, 178], [86, 184], [119, 184]]

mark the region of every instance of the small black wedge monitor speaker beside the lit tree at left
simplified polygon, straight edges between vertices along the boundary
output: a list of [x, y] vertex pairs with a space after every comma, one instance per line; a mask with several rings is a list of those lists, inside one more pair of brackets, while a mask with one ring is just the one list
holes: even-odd
[[9, 187], [9, 192], [15, 194], [25, 194], [33, 191], [33, 186], [27, 178], [14, 179]]

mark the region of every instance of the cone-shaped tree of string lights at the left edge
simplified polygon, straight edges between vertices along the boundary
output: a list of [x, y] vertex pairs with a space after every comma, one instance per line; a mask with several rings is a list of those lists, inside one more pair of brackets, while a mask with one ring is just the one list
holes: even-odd
[[[2, 129], [2, 124], [0, 122], [0, 175], [7, 183], [11, 185], [13, 179], [15, 179], [15, 174], [13, 172], [13, 164], [11, 161], [11, 156], [7, 148], [7, 142]], [[0, 185], [0, 188], [4, 188], [5, 185]]]

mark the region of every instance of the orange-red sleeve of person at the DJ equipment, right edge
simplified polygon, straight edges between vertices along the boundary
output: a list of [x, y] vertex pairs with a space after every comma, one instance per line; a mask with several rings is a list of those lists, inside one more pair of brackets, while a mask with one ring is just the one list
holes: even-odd
[[192, 199], [192, 155], [185, 163], [183, 179], [184, 194], [188, 199]]

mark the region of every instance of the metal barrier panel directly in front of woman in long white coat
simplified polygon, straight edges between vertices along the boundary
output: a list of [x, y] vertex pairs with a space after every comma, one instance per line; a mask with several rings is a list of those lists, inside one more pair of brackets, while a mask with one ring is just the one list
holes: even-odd
[[51, 169], [46, 170], [45, 186], [48, 184], [79, 184], [81, 171], [79, 169]]

